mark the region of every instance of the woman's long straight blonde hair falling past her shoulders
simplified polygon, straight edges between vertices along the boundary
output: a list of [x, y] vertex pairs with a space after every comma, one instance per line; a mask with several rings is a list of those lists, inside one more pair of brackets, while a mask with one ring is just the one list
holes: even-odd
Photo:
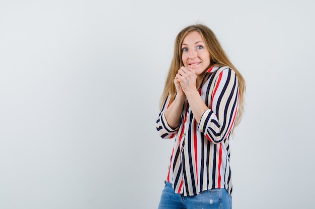
[[228, 66], [237, 74], [237, 78], [239, 79], [239, 85], [240, 85], [239, 110], [238, 110], [237, 118], [234, 124], [234, 126], [237, 126], [241, 121], [242, 113], [244, 111], [244, 103], [245, 103], [244, 94], [245, 94], [245, 89], [246, 89], [245, 80], [243, 76], [241, 75], [241, 73], [237, 70], [237, 68], [235, 68], [235, 66], [228, 59], [227, 55], [225, 54], [224, 50], [221, 47], [221, 44], [217, 40], [212, 30], [202, 24], [188, 26], [184, 28], [177, 35], [175, 39], [173, 59], [172, 59], [169, 73], [165, 82], [164, 90], [160, 99], [160, 108], [162, 108], [163, 103], [169, 94], [171, 96], [171, 102], [173, 102], [175, 99], [177, 92], [176, 92], [176, 88], [174, 84], [174, 78], [178, 70], [182, 66], [184, 66], [183, 61], [182, 61], [182, 44], [187, 34], [193, 31], [197, 31], [200, 33], [204, 41], [204, 44], [210, 53], [210, 58], [211, 58], [210, 66], [214, 64], [218, 66]]

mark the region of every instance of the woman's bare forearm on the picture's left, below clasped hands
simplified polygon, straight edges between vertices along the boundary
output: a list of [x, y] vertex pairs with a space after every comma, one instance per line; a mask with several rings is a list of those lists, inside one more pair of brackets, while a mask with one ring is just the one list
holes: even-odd
[[185, 99], [185, 95], [176, 95], [172, 104], [165, 111], [167, 123], [172, 128], [176, 128], [179, 125]]

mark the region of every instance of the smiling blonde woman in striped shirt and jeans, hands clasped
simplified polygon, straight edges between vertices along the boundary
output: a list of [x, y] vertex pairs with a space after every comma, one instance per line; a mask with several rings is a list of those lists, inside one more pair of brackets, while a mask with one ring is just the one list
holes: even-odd
[[162, 138], [175, 138], [159, 208], [231, 208], [229, 138], [244, 92], [244, 78], [208, 27], [177, 35], [156, 121]]

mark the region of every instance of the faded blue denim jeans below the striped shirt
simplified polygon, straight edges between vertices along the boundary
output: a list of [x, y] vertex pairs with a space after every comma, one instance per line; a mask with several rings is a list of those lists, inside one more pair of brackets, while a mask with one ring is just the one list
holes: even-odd
[[231, 195], [224, 188], [202, 191], [194, 196], [175, 193], [172, 183], [165, 182], [159, 209], [231, 209]]

